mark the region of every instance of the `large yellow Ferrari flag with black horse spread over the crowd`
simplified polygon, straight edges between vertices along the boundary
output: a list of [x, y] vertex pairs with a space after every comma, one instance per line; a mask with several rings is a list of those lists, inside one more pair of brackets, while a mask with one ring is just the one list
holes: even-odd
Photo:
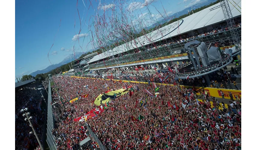
[[121, 88], [119, 90], [109, 91], [108, 93], [101, 94], [97, 98], [95, 98], [94, 104], [100, 106], [102, 104], [105, 104], [106, 102], [111, 101], [111, 99], [115, 99], [120, 95], [128, 93], [129, 90], [130, 88]]

